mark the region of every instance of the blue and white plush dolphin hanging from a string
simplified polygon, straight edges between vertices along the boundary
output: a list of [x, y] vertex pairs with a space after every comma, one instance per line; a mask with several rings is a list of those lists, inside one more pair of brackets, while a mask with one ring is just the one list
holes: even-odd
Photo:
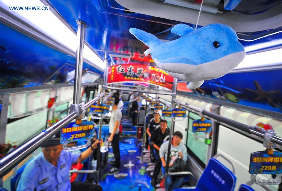
[[173, 77], [187, 81], [187, 88], [200, 87], [204, 80], [219, 78], [234, 69], [246, 53], [234, 30], [222, 24], [193, 29], [189, 25], [175, 25], [171, 32], [181, 37], [161, 41], [143, 30], [129, 32], [144, 42], [157, 66]]

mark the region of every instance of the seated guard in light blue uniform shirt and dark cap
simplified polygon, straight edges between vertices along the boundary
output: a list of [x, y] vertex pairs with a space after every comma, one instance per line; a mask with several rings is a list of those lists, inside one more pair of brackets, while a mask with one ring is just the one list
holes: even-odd
[[[103, 140], [102, 140], [103, 141]], [[70, 183], [69, 171], [73, 163], [82, 162], [97, 149], [101, 140], [96, 140], [84, 152], [70, 153], [63, 149], [60, 138], [49, 139], [42, 147], [42, 152], [24, 168], [17, 191], [102, 191], [102, 187], [92, 183]]]

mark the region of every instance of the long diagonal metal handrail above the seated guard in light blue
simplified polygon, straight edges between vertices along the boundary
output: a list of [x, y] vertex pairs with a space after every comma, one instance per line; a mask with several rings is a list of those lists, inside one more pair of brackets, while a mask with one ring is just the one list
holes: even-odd
[[[93, 103], [98, 101], [104, 93], [97, 95], [94, 99], [87, 102], [84, 107], [87, 109]], [[24, 144], [18, 146], [7, 155], [0, 159], [0, 178], [5, 174], [10, 172], [15, 166], [17, 166], [22, 160], [32, 154], [36, 149], [38, 149], [42, 144], [44, 144], [48, 139], [53, 137], [61, 128], [65, 127], [68, 123], [77, 117], [76, 112], [72, 112], [59, 120], [57, 123], [51, 125], [45, 130], [41, 131], [39, 134], [35, 135]]]

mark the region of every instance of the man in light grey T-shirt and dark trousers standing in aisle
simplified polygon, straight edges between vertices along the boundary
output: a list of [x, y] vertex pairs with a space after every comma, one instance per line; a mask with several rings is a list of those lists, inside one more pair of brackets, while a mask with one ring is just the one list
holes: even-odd
[[112, 151], [115, 157], [115, 162], [113, 167], [109, 172], [107, 172], [107, 175], [116, 174], [119, 172], [120, 167], [120, 152], [119, 152], [119, 124], [122, 118], [122, 112], [118, 108], [118, 102], [119, 97], [113, 96], [115, 98], [114, 104], [112, 106], [112, 115], [110, 118], [109, 123], [109, 133], [110, 137], [108, 139], [109, 142], [112, 142]]

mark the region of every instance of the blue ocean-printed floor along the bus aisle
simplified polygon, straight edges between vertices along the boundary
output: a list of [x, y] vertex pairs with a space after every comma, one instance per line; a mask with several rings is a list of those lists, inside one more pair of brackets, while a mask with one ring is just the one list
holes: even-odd
[[[120, 173], [128, 173], [125, 178], [117, 179], [113, 175], [107, 176], [103, 181], [100, 182], [104, 191], [151, 191], [154, 190], [150, 184], [150, 172], [146, 172], [144, 175], [140, 175], [139, 169], [141, 169], [142, 164], [140, 159], [136, 156], [140, 156], [140, 149], [138, 149], [138, 141], [136, 138], [121, 138], [119, 143], [120, 154], [121, 154], [121, 168]], [[128, 150], [136, 150], [136, 152], [129, 153]], [[110, 149], [112, 152], [112, 149]], [[109, 159], [111, 160], [111, 158]], [[124, 164], [134, 164], [133, 167], [124, 167]], [[147, 163], [144, 163], [147, 167]], [[112, 166], [108, 164], [108, 170]], [[142, 170], [141, 170], [142, 171]], [[104, 174], [104, 176], [106, 176]], [[149, 187], [149, 188], [148, 188]]]

